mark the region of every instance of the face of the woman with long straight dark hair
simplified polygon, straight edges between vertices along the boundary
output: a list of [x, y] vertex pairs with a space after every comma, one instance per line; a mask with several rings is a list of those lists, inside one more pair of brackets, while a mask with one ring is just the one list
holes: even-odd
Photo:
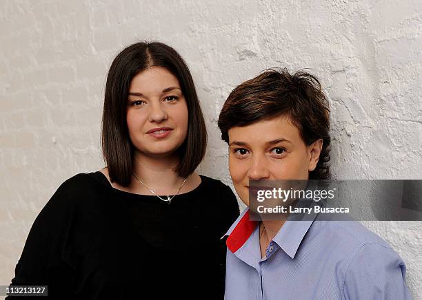
[[150, 67], [134, 76], [126, 121], [138, 155], [174, 153], [188, 132], [188, 106], [177, 78], [163, 67]]

